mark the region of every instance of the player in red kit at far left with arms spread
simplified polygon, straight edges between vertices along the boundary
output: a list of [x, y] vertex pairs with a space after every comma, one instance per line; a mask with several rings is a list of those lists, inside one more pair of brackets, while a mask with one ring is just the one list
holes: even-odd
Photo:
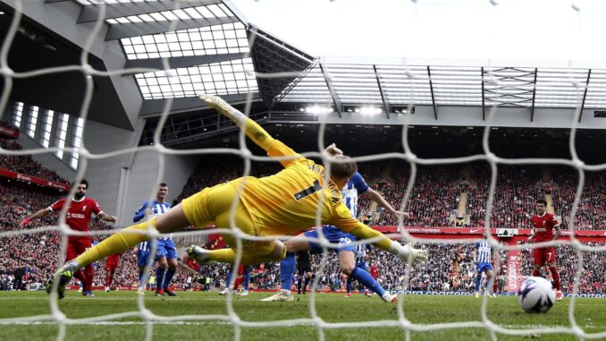
[[[105, 214], [97, 204], [96, 200], [86, 198], [86, 192], [88, 190], [88, 182], [84, 179], [78, 183], [76, 193], [72, 198], [72, 203], [67, 209], [67, 215], [65, 217], [65, 223], [74, 231], [89, 232], [90, 228], [90, 216], [94, 213], [97, 217], [104, 221], [115, 223], [116, 217], [111, 217]], [[39, 217], [44, 217], [52, 212], [60, 212], [66, 203], [66, 199], [62, 198], [57, 200], [54, 204], [47, 207], [46, 209], [40, 209], [36, 213], [29, 217], [26, 217], [19, 223], [19, 226], [28, 226], [31, 220]], [[90, 235], [71, 235], [67, 239], [67, 251], [65, 255], [65, 261], [73, 260], [78, 257], [80, 253], [86, 251], [92, 246], [92, 236]], [[80, 269], [74, 274], [74, 277], [80, 279], [84, 285], [82, 294], [85, 296], [93, 296], [93, 277], [95, 270], [92, 264], [84, 268], [84, 271]], [[63, 298], [63, 297], [61, 297]]]

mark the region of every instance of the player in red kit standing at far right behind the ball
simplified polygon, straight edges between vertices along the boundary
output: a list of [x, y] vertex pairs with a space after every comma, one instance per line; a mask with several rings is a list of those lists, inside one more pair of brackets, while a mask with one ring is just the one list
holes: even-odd
[[[536, 210], [536, 214], [531, 218], [533, 233], [528, 237], [528, 241], [534, 240], [534, 243], [541, 243], [558, 239], [562, 233], [560, 223], [553, 214], [547, 213], [547, 201], [543, 199], [536, 200], [534, 209]], [[555, 234], [553, 234], [554, 229], [556, 231]], [[560, 287], [560, 273], [555, 265], [555, 247], [548, 246], [534, 249], [534, 277], [541, 276], [541, 267], [545, 264], [547, 264], [551, 277], [553, 277], [553, 285], [556, 288], [556, 299], [560, 301], [564, 297], [564, 294], [562, 294]]]

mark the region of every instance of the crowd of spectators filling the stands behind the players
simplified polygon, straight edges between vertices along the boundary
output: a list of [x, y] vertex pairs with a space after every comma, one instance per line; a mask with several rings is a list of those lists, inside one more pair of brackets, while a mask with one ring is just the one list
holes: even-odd
[[[9, 142], [3, 141], [3, 143]], [[3, 157], [3, 162], [4, 159]], [[259, 177], [271, 175], [279, 169], [277, 163], [254, 163], [250, 175]], [[205, 163], [190, 176], [179, 200], [206, 186], [235, 179], [243, 175], [243, 170], [244, 163], [238, 158], [233, 158], [227, 163]], [[400, 209], [410, 174], [406, 163], [365, 163], [359, 165], [359, 171], [371, 187], [382, 192], [392, 206]], [[406, 226], [453, 226], [450, 215], [453, 209], [458, 208], [457, 199], [462, 191], [461, 180], [468, 183], [464, 190], [468, 193], [467, 211], [470, 214], [471, 224], [474, 226], [484, 224], [485, 202], [490, 183], [490, 169], [487, 166], [473, 166], [469, 176], [464, 175], [460, 166], [419, 166], [417, 171], [415, 186], [405, 209], [411, 213], [404, 223]], [[46, 173], [42, 172], [42, 174]], [[567, 173], [560, 169], [551, 169], [550, 174], [553, 206], [556, 213], [564, 219], [564, 228], [566, 228], [572, 200], [577, 190], [577, 177], [574, 176], [574, 172]], [[586, 175], [584, 193], [577, 212], [576, 228], [605, 229], [602, 226], [603, 202], [606, 199], [604, 176], [603, 172]], [[543, 169], [539, 166], [500, 166], [492, 210], [492, 226], [528, 226], [529, 217], [534, 211], [534, 200], [546, 193], [543, 177]], [[23, 183], [10, 183], [4, 180], [0, 185], [2, 198], [0, 232], [18, 231], [18, 223], [22, 217], [47, 207], [61, 195]], [[370, 212], [373, 206], [370, 200], [364, 198], [363, 196], [360, 199], [359, 211], [362, 215], [374, 213], [372, 225], [397, 225], [396, 218], [391, 217], [385, 210], [377, 209], [376, 212]], [[29, 228], [55, 225], [56, 217], [50, 215], [35, 220]], [[91, 228], [99, 230], [108, 227], [102, 222], [94, 221]], [[0, 290], [24, 289], [32, 283], [46, 281], [56, 269], [60, 243], [60, 234], [56, 232], [36, 231], [31, 234], [9, 234], [0, 237], [0, 254], [9, 255], [0, 258]], [[472, 244], [427, 243], [422, 247], [429, 251], [430, 259], [424, 267], [408, 274], [405, 273], [404, 264], [398, 258], [375, 249], [369, 263], [379, 269], [378, 281], [390, 290], [473, 291], [476, 267], [471, 257]], [[333, 253], [327, 257], [326, 267], [319, 278], [319, 289], [342, 289], [345, 286], [345, 277], [339, 270], [337, 257]], [[522, 251], [521, 259], [523, 260], [522, 274], [530, 274], [529, 253]], [[606, 292], [606, 278], [603, 271], [606, 254], [584, 252], [584, 261], [580, 291]], [[577, 271], [577, 252], [569, 246], [559, 246], [558, 262], [562, 286], [569, 292]], [[319, 257], [316, 257], [315, 264], [317, 269]], [[502, 273], [506, 269], [505, 266], [506, 264], [502, 265]], [[202, 277], [210, 278], [210, 287], [217, 287], [222, 285], [229, 269], [231, 269], [230, 265], [217, 264], [213, 267], [203, 267], [200, 274]], [[202, 288], [203, 286], [196, 283], [194, 272], [188, 269], [178, 270], [173, 280], [174, 286], [177, 289]], [[253, 270], [252, 286], [271, 290], [279, 286], [279, 278], [278, 264], [265, 263]], [[97, 262], [94, 283], [96, 286], [105, 284], [105, 260]], [[114, 286], [138, 285], [136, 251], [131, 249], [122, 254], [120, 267], [114, 277]]]

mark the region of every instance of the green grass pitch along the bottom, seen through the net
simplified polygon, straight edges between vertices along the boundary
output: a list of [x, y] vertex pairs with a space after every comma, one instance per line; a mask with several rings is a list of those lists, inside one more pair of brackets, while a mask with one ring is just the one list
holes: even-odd
[[[260, 302], [269, 294], [253, 293], [248, 297], [233, 296], [233, 309], [246, 322], [310, 319], [309, 295], [296, 296], [294, 302]], [[59, 308], [71, 319], [99, 317], [127, 311], [138, 311], [135, 292], [100, 293], [84, 298], [75, 292], [59, 302]], [[401, 296], [400, 296], [401, 298]], [[404, 297], [406, 318], [419, 327], [436, 323], [481, 321], [481, 299], [473, 296], [407, 295]], [[527, 314], [518, 308], [515, 297], [499, 297], [488, 302], [487, 314], [493, 323], [503, 328], [523, 329], [541, 327], [568, 328], [569, 299], [556, 303], [547, 314]], [[178, 297], [158, 298], [147, 293], [146, 308], [161, 317], [181, 316], [177, 321], [154, 323], [154, 340], [231, 340], [235, 328], [226, 320], [186, 320], [184, 315], [227, 315], [226, 299], [216, 292], [180, 293]], [[579, 298], [575, 317], [586, 333], [606, 331], [606, 301], [600, 298]], [[383, 303], [376, 295], [372, 298], [354, 294], [345, 298], [341, 294], [316, 294], [316, 311], [319, 318], [330, 323], [350, 323], [347, 328], [324, 328], [326, 340], [403, 340], [406, 336], [400, 327], [363, 327], [356, 322], [390, 320], [396, 323], [395, 304]], [[44, 293], [0, 292], [0, 321], [7, 318], [50, 314], [48, 296]], [[133, 316], [67, 326], [66, 340], [142, 340], [146, 335], [144, 320]], [[0, 327], [2, 340], [55, 340], [59, 326], [53, 321], [7, 324]], [[316, 340], [318, 330], [313, 325], [281, 327], [241, 327], [242, 340]], [[412, 340], [490, 340], [490, 333], [481, 327], [459, 327], [430, 331], [411, 331]], [[497, 334], [500, 340], [524, 340], [529, 336]], [[567, 334], [543, 334], [542, 340], [576, 340]]]

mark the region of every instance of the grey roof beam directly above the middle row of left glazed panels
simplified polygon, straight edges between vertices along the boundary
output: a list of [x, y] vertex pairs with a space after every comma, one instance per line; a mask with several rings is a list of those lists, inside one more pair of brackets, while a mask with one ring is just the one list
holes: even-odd
[[197, 27], [222, 25], [224, 23], [240, 22], [237, 17], [187, 19], [180, 21], [145, 21], [136, 23], [120, 23], [110, 25], [105, 40], [115, 40], [137, 36], [147, 36], [173, 30], [187, 30]]

